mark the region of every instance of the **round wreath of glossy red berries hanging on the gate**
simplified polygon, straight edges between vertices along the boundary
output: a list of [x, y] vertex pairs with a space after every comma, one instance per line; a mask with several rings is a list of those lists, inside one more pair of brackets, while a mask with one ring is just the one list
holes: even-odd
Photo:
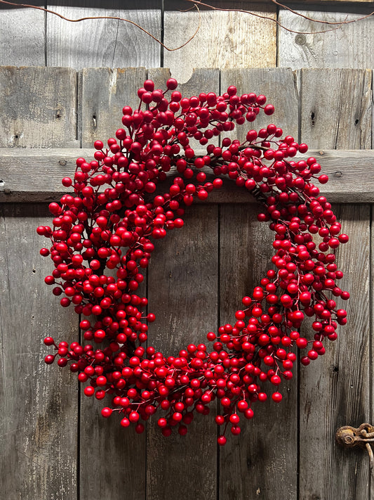
[[[307, 152], [305, 144], [283, 137], [274, 124], [251, 129], [243, 143], [228, 137], [221, 146], [210, 142], [235, 124], [253, 122], [260, 110], [272, 115], [265, 96], [239, 96], [229, 86], [222, 96], [182, 98], [177, 85], [168, 79], [162, 91], [145, 82], [138, 109], [123, 108], [123, 128], [115, 138], [107, 147], [95, 141], [95, 159], [79, 158], [74, 179], [62, 179], [72, 193], [49, 206], [53, 229], [37, 229], [51, 241], [51, 248], [41, 249], [55, 268], [45, 281], [61, 296], [62, 307], [72, 304], [81, 315], [86, 341], [56, 344], [47, 337], [55, 354], [46, 363], [57, 358], [58, 366], [78, 373], [88, 383], [86, 396], [108, 395], [102, 416], [119, 414], [121, 425], [133, 424], [138, 433], [142, 421], [162, 411], [163, 435], [174, 427], [185, 435], [194, 411], [207, 415], [208, 404], [218, 399], [222, 445], [227, 426], [238, 435], [241, 420], [253, 417], [253, 402], [265, 401], [269, 392], [281, 401], [279, 385], [293, 377], [296, 348], [305, 350], [301, 363], [309, 364], [324, 354], [326, 338], [337, 338], [338, 324], [347, 322], [334, 297], [349, 298], [337, 285], [342, 271], [335, 264], [335, 250], [348, 237], [312, 184], [328, 180], [319, 175], [321, 166], [315, 158], [295, 159]], [[190, 139], [206, 146], [206, 154], [196, 155]], [[155, 193], [167, 172], [171, 186]], [[213, 172], [212, 181], [207, 172]], [[262, 205], [258, 220], [274, 231], [274, 269], [251, 297], [243, 297], [233, 324], [220, 326], [218, 335], [208, 333], [211, 351], [190, 344], [167, 356], [146, 344], [155, 316], [145, 313], [147, 298], [137, 290], [154, 241], [180, 229], [185, 207], [206, 200], [224, 176]], [[305, 316], [313, 319], [312, 340], [300, 335]]]

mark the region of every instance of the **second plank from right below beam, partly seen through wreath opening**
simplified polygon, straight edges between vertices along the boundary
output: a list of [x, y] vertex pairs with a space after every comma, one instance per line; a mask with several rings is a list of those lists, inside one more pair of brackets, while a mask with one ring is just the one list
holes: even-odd
[[[220, 207], [220, 324], [235, 321], [241, 297], [251, 295], [272, 267], [273, 235], [257, 214], [256, 204]], [[280, 390], [281, 404], [270, 397], [253, 404], [253, 421], [241, 416], [240, 437], [227, 432], [220, 449], [220, 499], [297, 498], [297, 370]]]

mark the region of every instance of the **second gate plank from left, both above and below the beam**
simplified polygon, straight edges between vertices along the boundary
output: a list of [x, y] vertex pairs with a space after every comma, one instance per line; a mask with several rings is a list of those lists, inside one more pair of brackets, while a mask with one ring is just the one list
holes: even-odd
[[[136, 91], [146, 77], [145, 68], [83, 70], [81, 135], [84, 145], [92, 148], [96, 139], [105, 142], [114, 136], [121, 127], [123, 105], [138, 106]], [[91, 149], [88, 157], [92, 155]], [[120, 498], [126, 491], [129, 500], [143, 499], [145, 434], [135, 435], [132, 429], [126, 432], [119, 425], [119, 419], [102, 418], [100, 410], [106, 404], [81, 397], [80, 499], [91, 499], [98, 491], [102, 498]], [[100, 474], [93, 475], [92, 470], [100, 470]]]

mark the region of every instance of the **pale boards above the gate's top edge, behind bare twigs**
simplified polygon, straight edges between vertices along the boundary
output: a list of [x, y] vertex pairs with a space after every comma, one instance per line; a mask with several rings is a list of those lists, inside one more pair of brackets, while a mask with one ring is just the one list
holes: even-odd
[[[163, 49], [126, 22], [99, 19], [73, 24], [51, 13], [0, 4], [0, 64], [76, 70], [164, 66], [171, 68], [180, 82], [187, 82], [194, 68], [374, 67], [374, 18], [352, 23], [373, 11], [372, 0], [286, 2], [305, 17], [269, 0], [210, 3], [222, 9], [252, 11], [255, 15], [212, 11], [204, 6], [199, 6], [200, 14], [184, 12], [193, 6], [186, 0], [45, 2], [52, 11], [71, 19], [95, 15], [126, 18], [162, 39], [169, 49], [185, 44], [200, 25], [196, 37], [177, 51]], [[34, 4], [44, 6], [37, 0]], [[308, 18], [346, 24], [335, 29], [337, 25], [312, 23]]]

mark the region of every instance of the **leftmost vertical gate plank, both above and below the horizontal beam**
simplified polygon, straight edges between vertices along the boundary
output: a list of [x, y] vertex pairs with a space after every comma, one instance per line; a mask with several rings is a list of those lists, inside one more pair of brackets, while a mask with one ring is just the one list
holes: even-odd
[[[76, 146], [74, 71], [0, 68], [0, 82], [1, 146]], [[62, 309], [58, 300], [54, 302], [44, 284], [53, 265], [39, 256], [46, 241], [36, 236], [36, 227], [51, 224], [51, 214], [47, 216], [38, 205], [8, 205], [1, 210], [0, 301], [6, 380], [2, 406], [6, 413], [1, 418], [5, 424], [1, 449], [6, 453], [1, 456], [1, 471], [6, 496], [74, 499], [77, 385], [68, 370], [62, 374], [58, 366], [47, 367], [43, 361], [51, 352], [42, 343], [44, 336], [69, 342], [77, 334], [76, 316]]]

